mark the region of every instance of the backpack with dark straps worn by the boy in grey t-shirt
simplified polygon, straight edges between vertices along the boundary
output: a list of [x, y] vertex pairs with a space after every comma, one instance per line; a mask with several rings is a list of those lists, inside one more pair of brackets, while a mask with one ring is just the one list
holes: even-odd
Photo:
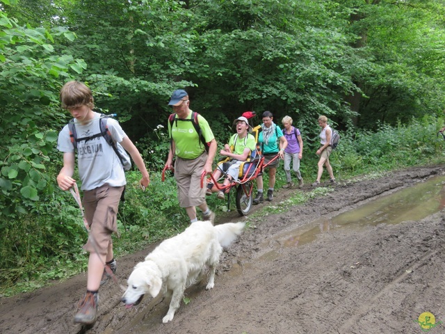
[[115, 141], [113, 141], [113, 137], [111, 137], [111, 133], [108, 130], [108, 125], [106, 124], [108, 117], [110, 117], [110, 116], [106, 116], [106, 115], [100, 116], [100, 118], [99, 118], [99, 129], [100, 129], [99, 134], [94, 134], [92, 136], [83, 137], [83, 138], [77, 138], [76, 127], [74, 126], [74, 118], [72, 120], [70, 120], [70, 122], [68, 122], [68, 129], [70, 129], [71, 143], [74, 146], [74, 150], [76, 150], [77, 143], [79, 143], [79, 141], [90, 141], [93, 138], [103, 136], [105, 138], [106, 142], [109, 145], [111, 145], [114, 152], [118, 156], [120, 163], [122, 164], [122, 167], [124, 168], [124, 170], [130, 170], [131, 169], [131, 159], [130, 159], [127, 151], [124, 148], [122, 148], [122, 145], [120, 145], [120, 143], [115, 143]]

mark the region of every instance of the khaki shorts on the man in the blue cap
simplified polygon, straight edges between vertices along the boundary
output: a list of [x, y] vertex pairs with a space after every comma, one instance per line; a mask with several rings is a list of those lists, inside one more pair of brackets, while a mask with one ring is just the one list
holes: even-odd
[[175, 179], [178, 187], [179, 207], [197, 207], [206, 201], [206, 183], [201, 188], [201, 173], [207, 161], [207, 152], [196, 159], [175, 161]]

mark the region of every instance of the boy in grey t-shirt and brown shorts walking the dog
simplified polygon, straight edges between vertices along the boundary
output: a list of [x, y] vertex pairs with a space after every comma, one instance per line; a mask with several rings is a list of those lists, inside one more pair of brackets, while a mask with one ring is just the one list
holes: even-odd
[[[116, 270], [111, 234], [117, 230], [118, 206], [127, 181], [124, 168], [111, 145], [104, 136], [94, 136], [101, 133], [99, 125], [101, 115], [92, 111], [94, 100], [90, 88], [79, 81], [69, 81], [60, 90], [60, 101], [63, 109], [70, 111], [74, 118], [78, 138], [93, 136], [90, 140], [77, 143], [79, 177], [83, 190], [82, 202], [90, 228], [88, 241], [83, 248], [90, 252], [90, 257], [87, 292], [79, 301], [74, 322], [88, 325], [93, 324], [97, 318], [99, 286], [106, 283], [110, 277], [105, 266], [109, 267], [108, 272], [114, 273]], [[116, 120], [108, 118], [107, 127], [113, 141], [120, 143], [138, 166], [142, 173], [140, 186], [145, 189], [150, 180], [138, 149]], [[65, 125], [58, 135], [57, 148], [63, 152], [63, 168], [57, 176], [57, 183], [60, 189], [69, 190], [76, 183], [72, 178], [76, 157], [68, 125]]]

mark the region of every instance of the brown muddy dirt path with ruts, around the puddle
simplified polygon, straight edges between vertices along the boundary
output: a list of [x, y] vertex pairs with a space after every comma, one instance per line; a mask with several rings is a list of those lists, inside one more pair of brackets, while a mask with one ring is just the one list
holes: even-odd
[[[0, 299], [0, 333], [422, 333], [419, 315], [430, 312], [436, 325], [445, 321], [445, 212], [362, 229], [321, 224], [323, 233], [302, 245], [291, 236], [316, 219], [329, 221], [373, 198], [444, 174], [445, 166], [432, 166], [340, 182], [329, 196], [264, 221], [251, 220], [255, 228], [223, 253], [215, 287], [206, 291], [201, 283], [187, 289], [190, 303], [181, 303], [169, 324], [161, 323], [167, 301], [146, 296], [127, 310], [120, 288], [107, 283], [99, 292], [97, 323], [88, 331], [74, 325], [86, 283], [81, 275]], [[288, 193], [277, 192], [275, 202]], [[233, 221], [238, 219], [243, 218], [234, 213]], [[152, 247], [118, 259], [122, 283]], [[443, 324], [430, 330], [443, 332]]]

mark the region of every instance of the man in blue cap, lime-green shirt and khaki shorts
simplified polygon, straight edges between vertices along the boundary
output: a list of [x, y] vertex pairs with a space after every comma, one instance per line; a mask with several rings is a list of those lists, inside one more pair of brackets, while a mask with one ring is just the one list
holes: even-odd
[[[196, 207], [201, 209], [203, 220], [213, 223], [215, 214], [207, 206], [206, 186], [204, 184], [201, 188], [201, 175], [212, 172], [217, 147], [215, 137], [207, 120], [189, 109], [190, 100], [185, 90], [175, 90], [168, 105], [173, 109], [170, 116], [172, 121], [168, 122], [172, 145], [165, 168], [173, 168], [173, 158], [176, 155], [175, 179], [179, 206], [186, 209], [191, 223], [197, 221]], [[207, 148], [203, 145], [201, 136]]]

